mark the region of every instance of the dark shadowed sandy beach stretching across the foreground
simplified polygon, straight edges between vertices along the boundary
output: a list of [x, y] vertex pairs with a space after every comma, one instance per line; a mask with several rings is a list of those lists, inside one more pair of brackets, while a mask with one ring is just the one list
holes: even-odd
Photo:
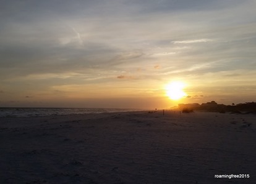
[[255, 183], [255, 122], [178, 111], [0, 118], [0, 183]]

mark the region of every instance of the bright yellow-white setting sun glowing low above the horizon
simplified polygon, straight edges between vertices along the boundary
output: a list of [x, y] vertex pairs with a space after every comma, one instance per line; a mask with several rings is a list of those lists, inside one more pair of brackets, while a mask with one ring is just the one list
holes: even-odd
[[179, 100], [187, 94], [183, 91], [185, 84], [183, 82], [171, 82], [166, 86], [166, 94], [172, 100]]

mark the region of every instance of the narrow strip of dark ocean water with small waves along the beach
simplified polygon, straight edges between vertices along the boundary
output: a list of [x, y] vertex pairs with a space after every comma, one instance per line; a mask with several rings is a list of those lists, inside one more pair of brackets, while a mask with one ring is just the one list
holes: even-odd
[[141, 111], [125, 108], [0, 108], [0, 117], [59, 116], [68, 114]]

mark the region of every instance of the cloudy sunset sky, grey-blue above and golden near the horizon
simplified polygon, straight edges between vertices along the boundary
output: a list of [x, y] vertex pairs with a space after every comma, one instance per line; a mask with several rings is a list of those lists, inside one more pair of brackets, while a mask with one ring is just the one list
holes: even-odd
[[255, 0], [0, 3], [0, 106], [256, 101]]

